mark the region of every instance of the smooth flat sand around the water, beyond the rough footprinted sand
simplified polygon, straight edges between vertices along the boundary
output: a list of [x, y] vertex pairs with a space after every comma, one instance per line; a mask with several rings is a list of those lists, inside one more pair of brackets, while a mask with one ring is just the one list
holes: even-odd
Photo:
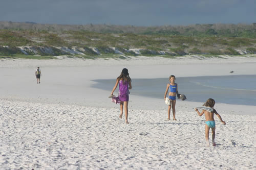
[[[164, 65], [163, 65], [164, 63]], [[256, 58], [233, 57], [230, 59], [209, 58], [206, 60], [191, 59], [166, 59], [162, 57], [142, 57], [131, 60], [83, 60], [83, 59], [62, 59], [62, 60], [4, 60], [0, 62], [0, 78], [5, 80], [0, 89], [2, 98], [16, 98], [23, 101], [54, 102], [66, 104], [78, 104], [91, 107], [111, 108], [113, 105], [108, 99], [112, 89], [102, 90], [93, 88], [95, 79], [116, 79], [123, 67], [127, 67], [130, 77], [133, 78], [168, 78], [170, 74], [179, 77], [194, 76], [227, 76], [233, 70], [232, 75], [253, 75]], [[34, 69], [40, 66], [42, 78], [40, 86], [34, 84]], [[170, 69], [168, 69], [168, 66]], [[7, 74], [5, 74], [7, 72]], [[13, 75], [13, 76], [11, 76]], [[0, 86], [0, 87], [1, 87]], [[20, 86], [24, 86], [20, 91]], [[113, 82], [114, 86], [114, 82]], [[38, 88], [39, 89], [36, 89]], [[4, 90], [7, 89], [7, 90]], [[180, 90], [179, 90], [180, 91]], [[116, 91], [115, 91], [116, 93]], [[145, 101], [142, 104], [141, 101]], [[179, 105], [201, 106], [202, 103], [178, 101]], [[247, 105], [226, 105], [218, 103], [220, 107], [228, 112], [256, 114], [256, 106]], [[227, 109], [225, 107], [226, 106]], [[243, 106], [243, 107], [241, 107]], [[166, 108], [160, 99], [146, 99], [143, 96], [132, 95], [129, 107], [136, 109]], [[191, 107], [194, 108], [194, 107]], [[232, 108], [232, 109], [231, 109]], [[242, 109], [244, 108], [244, 109]], [[237, 112], [235, 110], [238, 110]]]

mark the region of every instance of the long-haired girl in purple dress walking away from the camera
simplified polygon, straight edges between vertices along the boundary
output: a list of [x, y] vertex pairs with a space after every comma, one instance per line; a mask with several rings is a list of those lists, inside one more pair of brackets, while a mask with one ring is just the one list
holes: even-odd
[[125, 123], [129, 124], [128, 122], [128, 102], [129, 102], [129, 89], [132, 89], [132, 80], [129, 77], [128, 70], [126, 68], [123, 68], [120, 76], [116, 79], [116, 84], [111, 92], [111, 96], [113, 96], [113, 93], [115, 89], [117, 88], [117, 85], [119, 85], [119, 91], [118, 96], [115, 98], [116, 103], [120, 103], [120, 115], [119, 118], [122, 118], [123, 115], [123, 106], [125, 111]]

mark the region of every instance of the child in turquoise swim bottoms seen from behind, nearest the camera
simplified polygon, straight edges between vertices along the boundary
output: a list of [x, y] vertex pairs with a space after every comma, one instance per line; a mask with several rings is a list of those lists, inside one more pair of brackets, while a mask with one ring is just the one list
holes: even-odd
[[199, 116], [202, 116], [203, 114], [205, 116], [205, 120], [206, 120], [206, 122], [205, 122], [205, 139], [206, 139], [207, 147], [210, 146], [210, 143], [209, 143], [210, 128], [211, 128], [211, 133], [212, 133], [212, 145], [216, 146], [216, 143], [215, 143], [215, 129], [216, 128], [215, 128], [214, 114], [216, 114], [219, 117], [219, 119], [221, 120], [221, 123], [223, 125], [226, 125], [226, 123], [222, 120], [221, 115], [219, 115], [219, 113], [217, 113], [217, 111], [214, 109], [214, 105], [215, 105], [215, 100], [208, 99], [203, 104], [203, 106], [205, 106], [205, 107], [201, 107], [203, 109], [201, 113], [198, 111], [198, 109], [200, 107], [195, 108], [195, 110], [197, 111]]

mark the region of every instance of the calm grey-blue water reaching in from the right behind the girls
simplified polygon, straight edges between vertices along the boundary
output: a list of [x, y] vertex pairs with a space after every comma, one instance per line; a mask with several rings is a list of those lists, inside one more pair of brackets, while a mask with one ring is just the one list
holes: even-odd
[[[111, 92], [116, 80], [94, 81], [97, 84], [93, 87]], [[168, 78], [132, 79], [133, 89], [130, 92], [133, 95], [163, 99], [167, 83]], [[212, 98], [217, 103], [256, 106], [256, 75], [177, 77], [176, 83], [179, 93], [185, 94], [191, 102], [204, 103]]]

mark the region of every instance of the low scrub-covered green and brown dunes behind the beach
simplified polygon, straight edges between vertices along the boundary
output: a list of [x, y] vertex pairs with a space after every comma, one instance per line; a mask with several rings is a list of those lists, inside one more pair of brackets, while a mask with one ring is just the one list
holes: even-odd
[[256, 54], [256, 23], [135, 27], [0, 21], [0, 57]]

